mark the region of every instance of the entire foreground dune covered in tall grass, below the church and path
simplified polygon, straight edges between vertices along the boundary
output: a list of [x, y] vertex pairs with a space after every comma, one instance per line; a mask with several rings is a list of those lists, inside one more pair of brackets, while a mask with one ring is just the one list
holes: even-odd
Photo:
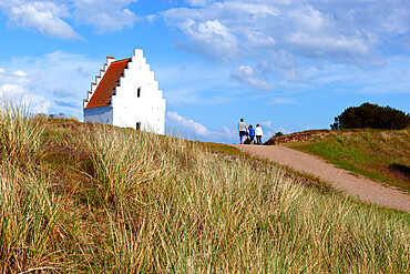
[[197, 142], [6, 105], [0, 148], [2, 273], [410, 270], [408, 213]]

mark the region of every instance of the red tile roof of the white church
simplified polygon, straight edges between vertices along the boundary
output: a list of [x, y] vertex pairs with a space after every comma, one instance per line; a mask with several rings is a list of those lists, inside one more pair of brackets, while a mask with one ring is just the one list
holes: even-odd
[[120, 84], [124, 69], [127, 67], [131, 58], [112, 62], [104, 77], [101, 79], [100, 84], [96, 87], [94, 94], [91, 97], [90, 102], [85, 109], [109, 106], [111, 105], [111, 97], [115, 94], [115, 88]]

